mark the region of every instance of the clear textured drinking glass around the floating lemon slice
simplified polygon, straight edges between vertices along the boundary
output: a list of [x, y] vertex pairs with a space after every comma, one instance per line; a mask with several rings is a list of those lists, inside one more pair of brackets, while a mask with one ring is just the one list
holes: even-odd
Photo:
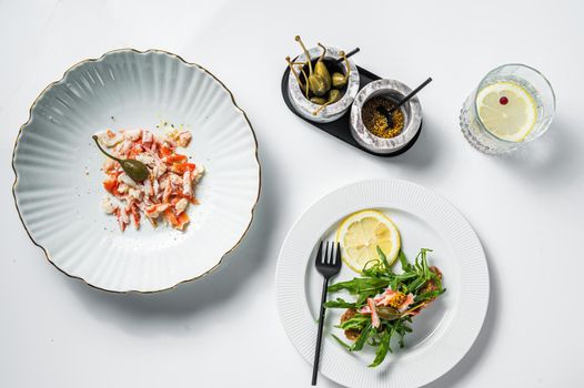
[[[515, 83], [531, 95], [535, 105], [535, 121], [521, 140], [512, 141], [497, 136], [479, 115], [477, 95], [493, 84]], [[502, 98], [503, 99], [503, 98]], [[501, 100], [506, 104], [506, 100]], [[486, 154], [502, 154], [516, 150], [544, 134], [555, 113], [555, 94], [550, 81], [537, 70], [521, 63], [503, 64], [490, 71], [469, 95], [461, 110], [461, 130], [464, 137], [476, 150]]]

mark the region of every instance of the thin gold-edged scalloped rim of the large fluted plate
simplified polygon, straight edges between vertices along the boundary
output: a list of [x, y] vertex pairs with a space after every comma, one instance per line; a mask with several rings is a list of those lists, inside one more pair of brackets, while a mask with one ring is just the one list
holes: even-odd
[[[67, 79], [67, 75], [74, 69], [79, 68], [79, 67], [82, 67], [87, 63], [93, 63], [93, 62], [101, 62], [103, 61], [108, 55], [110, 54], [115, 54], [115, 53], [137, 53], [137, 54], [149, 54], [149, 53], [157, 53], [157, 54], [163, 54], [163, 55], [168, 55], [168, 57], [171, 57], [171, 58], [174, 58], [177, 60], [179, 60], [180, 62], [182, 62], [184, 65], [188, 65], [188, 67], [192, 67], [192, 68], [197, 68], [199, 70], [202, 70], [203, 72], [205, 72], [209, 76], [211, 76], [213, 79], [213, 81], [215, 81], [221, 88], [223, 88], [229, 96], [231, 98], [231, 101], [233, 103], [233, 105], [235, 106], [235, 109], [241, 112], [241, 114], [243, 115], [243, 119], [245, 120], [245, 122], [248, 123], [248, 126], [251, 131], [251, 134], [252, 134], [252, 137], [253, 137], [253, 142], [254, 142], [254, 157], [255, 157], [255, 162], [258, 164], [258, 195], [255, 197], [255, 201], [253, 202], [253, 205], [251, 207], [251, 211], [250, 211], [250, 219], [248, 222], [248, 225], [245, 227], [245, 229], [243, 231], [242, 235], [240, 236], [240, 238], [235, 242], [235, 244], [229, 248], [228, 251], [225, 251], [220, 257], [219, 257], [219, 261], [217, 262], [215, 265], [213, 265], [211, 268], [209, 268], [208, 270], [205, 270], [203, 274], [201, 275], [198, 275], [195, 277], [192, 277], [192, 278], [188, 278], [188, 279], [184, 279], [184, 280], [181, 280], [181, 282], [178, 282], [175, 283], [174, 285], [170, 286], [170, 287], [165, 287], [165, 288], [161, 288], [161, 289], [153, 289], [153, 290], [141, 290], [141, 289], [128, 289], [128, 290], [114, 290], [114, 289], [108, 289], [108, 288], [103, 288], [103, 287], [100, 287], [98, 285], [94, 285], [92, 284], [91, 282], [87, 280], [85, 278], [83, 278], [82, 276], [77, 276], [77, 275], [72, 275], [72, 274], [69, 274], [67, 270], [62, 269], [61, 267], [59, 267], [52, 259], [51, 259], [51, 256], [48, 252], [48, 249], [42, 246], [41, 244], [39, 244], [31, 235], [28, 226], [27, 226], [27, 223], [24, 222], [24, 218], [22, 217], [22, 213], [18, 206], [18, 200], [17, 200], [17, 185], [18, 185], [18, 181], [19, 181], [19, 175], [18, 175], [18, 172], [17, 172], [17, 166], [16, 166], [16, 155], [17, 155], [17, 149], [19, 146], [19, 141], [20, 141], [20, 137], [22, 135], [22, 131], [30, 124], [32, 118], [33, 118], [33, 113], [34, 113], [34, 108], [37, 106], [37, 103], [39, 101], [41, 101], [42, 96], [44, 94], [47, 94], [52, 88], [59, 85], [59, 84], [62, 84], [64, 82], [64, 80]], [[82, 280], [84, 284], [87, 284], [88, 286], [92, 287], [92, 288], [95, 288], [95, 289], [99, 289], [99, 290], [102, 290], [102, 292], [108, 292], [108, 293], [113, 293], [113, 294], [129, 294], [129, 293], [135, 293], [135, 294], [154, 294], [154, 293], [161, 293], [161, 292], [165, 292], [165, 290], [170, 290], [170, 289], [173, 289], [175, 287], [178, 287], [179, 285], [181, 284], [184, 284], [184, 283], [190, 283], [190, 282], [194, 282], [197, 279], [200, 279], [202, 278], [203, 276], [205, 275], [209, 275], [210, 273], [212, 273], [214, 269], [217, 269], [221, 263], [223, 262], [223, 259], [225, 258], [226, 255], [229, 255], [231, 252], [233, 252], [240, 244], [241, 242], [243, 241], [243, 238], [245, 237], [248, 231], [250, 229], [250, 226], [253, 222], [253, 218], [254, 218], [254, 214], [255, 214], [255, 208], [258, 206], [258, 202], [260, 201], [260, 194], [261, 194], [261, 187], [262, 187], [262, 167], [261, 167], [261, 163], [260, 163], [260, 159], [259, 159], [259, 155], [258, 155], [258, 136], [255, 135], [255, 131], [253, 130], [253, 126], [248, 118], [248, 115], [245, 114], [245, 111], [243, 111], [243, 109], [241, 109], [238, 103], [235, 102], [235, 98], [233, 95], [233, 93], [231, 92], [231, 90], [229, 90], [229, 88], [219, 79], [217, 78], [217, 75], [214, 75], [212, 72], [210, 72], [208, 69], [205, 69], [204, 67], [198, 64], [198, 63], [194, 63], [194, 62], [189, 62], [187, 61], [185, 59], [183, 59], [181, 55], [179, 54], [175, 54], [175, 53], [172, 53], [172, 52], [169, 52], [169, 51], [165, 51], [165, 50], [161, 50], [161, 49], [149, 49], [149, 50], [144, 50], [144, 51], [140, 51], [140, 50], [137, 50], [137, 49], [132, 49], [132, 48], [123, 48], [123, 49], [114, 49], [114, 50], [110, 50], [105, 53], [103, 53], [101, 57], [99, 58], [90, 58], [90, 59], [84, 59], [84, 60], [81, 60], [77, 63], [74, 63], [73, 65], [71, 65], [69, 69], [67, 69], [64, 72], [63, 72], [63, 75], [57, 80], [57, 81], [53, 81], [51, 83], [49, 83], [40, 93], [39, 95], [34, 99], [34, 101], [32, 102], [32, 104], [30, 105], [29, 108], [29, 118], [28, 120], [20, 126], [19, 131], [18, 131], [18, 134], [17, 134], [17, 137], [14, 140], [14, 146], [12, 149], [12, 162], [11, 162], [11, 166], [12, 166], [12, 172], [14, 173], [14, 182], [12, 183], [12, 198], [14, 201], [14, 207], [17, 208], [17, 213], [18, 213], [18, 216], [20, 218], [20, 222], [22, 223], [22, 226], [24, 227], [24, 231], [27, 232], [27, 235], [29, 236], [30, 241], [37, 245], [39, 248], [42, 249], [43, 254], [44, 254], [44, 257], [47, 258], [47, 261], [53, 266], [56, 267], [57, 269], [59, 269], [59, 272], [61, 272], [62, 274], [67, 275], [68, 277], [71, 277], [71, 278], [74, 278], [74, 279], [79, 279], [79, 280]]]

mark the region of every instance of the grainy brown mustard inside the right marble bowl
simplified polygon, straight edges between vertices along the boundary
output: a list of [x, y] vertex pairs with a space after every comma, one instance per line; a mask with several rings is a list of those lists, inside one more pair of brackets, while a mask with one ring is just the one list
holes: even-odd
[[390, 139], [397, 136], [403, 131], [404, 116], [402, 110], [393, 112], [393, 126], [387, 127], [387, 119], [377, 112], [377, 106], [380, 105], [390, 110], [394, 102], [384, 96], [374, 96], [365, 101], [361, 110], [363, 124], [365, 124], [369, 132], [377, 137]]

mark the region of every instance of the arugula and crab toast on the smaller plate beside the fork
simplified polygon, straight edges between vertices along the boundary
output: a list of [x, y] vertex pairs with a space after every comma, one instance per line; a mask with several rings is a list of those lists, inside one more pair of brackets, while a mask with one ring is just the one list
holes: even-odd
[[354, 302], [339, 297], [324, 304], [326, 308], [345, 309], [336, 328], [344, 330], [351, 343], [333, 335], [339, 344], [349, 351], [362, 350], [365, 345], [375, 348], [370, 367], [379, 366], [393, 351], [392, 339], [396, 338], [399, 346], [404, 347], [404, 337], [412, 331], [412, 319], [446, 290], [440, 269], [427, 264], [431, 249], [421, 249], [414, 264], [399, 251], [401, 273], [393, 270], [392, 261], [379, 245], [376, 251], [379, 258], [364, 265], [361, 277], [329, 287], [329, 293], [349, 293]]

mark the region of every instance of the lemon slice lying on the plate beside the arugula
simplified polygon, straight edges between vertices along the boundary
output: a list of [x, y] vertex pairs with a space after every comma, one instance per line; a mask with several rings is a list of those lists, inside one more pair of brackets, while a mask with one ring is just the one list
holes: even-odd
[[392, 264], [400, 253], [400, 232], [385, 214], [367, 210], [348, 216], [336, 231], [343, 262], [361, 272], [371, 261], [380, 258], [377, 246]]

